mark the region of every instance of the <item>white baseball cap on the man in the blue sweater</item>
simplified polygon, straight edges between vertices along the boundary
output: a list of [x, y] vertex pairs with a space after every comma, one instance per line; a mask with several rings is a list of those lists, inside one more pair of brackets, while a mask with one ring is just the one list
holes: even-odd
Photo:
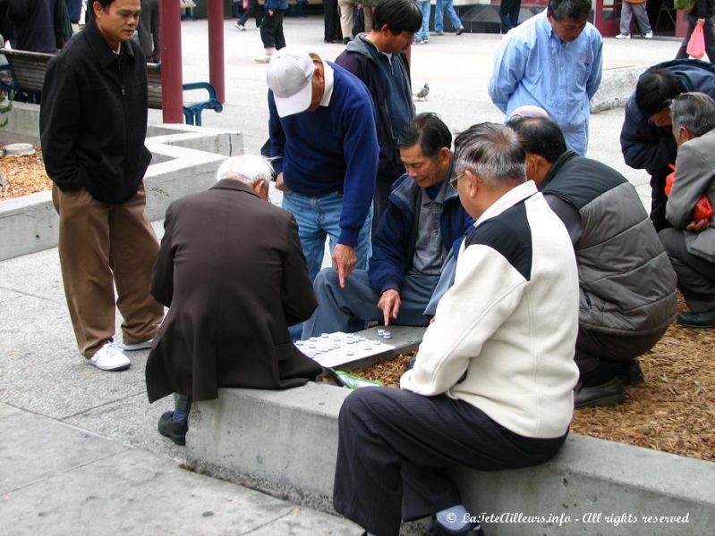
[[268, 88], [273, 91], [280, 117], [305, 112], [311, 107], [313, 97], [313, 72], [311, 56], [293, 48], [284, 47], [273, 54], [268, 63]]

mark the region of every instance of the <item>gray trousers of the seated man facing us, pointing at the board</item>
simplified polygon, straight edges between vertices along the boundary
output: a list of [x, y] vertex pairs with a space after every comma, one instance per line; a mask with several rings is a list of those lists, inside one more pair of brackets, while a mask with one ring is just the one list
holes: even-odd
[[[424, 311], [438, 281], [437, 275], [407, 275], [400, 289], [401, 306], [394, 323], [426, 326], [430, 318]], [[333, 268], [326, 268], [316, 276], [313, 289], [318, 298], [318, 308], [303, 325], [303, 339], [335, 331], [361, 331], [365, 328], [365, 322], [379, 322], [383, 319], [382, 311], [378, 308], [379, 295], [370, 286], [367, 270], [353, 270], [345, 280], [345, 289], [341, 289], [337, 272]]]

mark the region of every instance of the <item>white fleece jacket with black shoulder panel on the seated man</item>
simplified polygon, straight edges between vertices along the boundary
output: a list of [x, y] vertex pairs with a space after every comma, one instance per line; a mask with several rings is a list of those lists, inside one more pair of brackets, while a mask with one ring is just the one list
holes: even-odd
[[528, 181], [464, 239], [455, 284], [400, 385], [462, 399], [525, 437], [558, 437], [573, 414], [577, 331], [574, 249]]

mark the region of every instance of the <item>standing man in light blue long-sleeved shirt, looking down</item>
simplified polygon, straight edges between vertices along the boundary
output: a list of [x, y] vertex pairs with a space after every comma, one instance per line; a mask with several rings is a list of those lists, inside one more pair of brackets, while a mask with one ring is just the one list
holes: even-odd
[[502, 39], [489, 80], [489, 96], [506, 117], [523, 105], [543, 108], [579, 155], [588, 147], [589, 100], [601, 76], [603, 41], [590, 12], [591, 0], [549, 0]]

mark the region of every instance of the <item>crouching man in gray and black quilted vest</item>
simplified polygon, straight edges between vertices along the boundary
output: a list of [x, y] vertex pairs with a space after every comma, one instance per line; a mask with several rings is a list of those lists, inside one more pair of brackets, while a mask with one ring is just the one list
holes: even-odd
[[558, 125], [519, 117], [526, 176], [566, 225], [579, 274], [575, 407], [624, 401], [643, 381], [636, 357], [676, 317], [676, 274], [633, 185], [616, 170], [566, 150]]

